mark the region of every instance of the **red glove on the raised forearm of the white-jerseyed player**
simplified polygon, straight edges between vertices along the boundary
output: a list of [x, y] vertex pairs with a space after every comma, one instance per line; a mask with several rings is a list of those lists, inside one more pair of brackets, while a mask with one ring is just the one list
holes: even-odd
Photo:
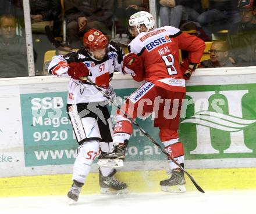
[[69, 74], [73, 79], [81, 80], [82, 77], [87, 77], [89, 75], [89, 70], [82, 62], [69, 63], [69, 70], [67, 70], [67, 74]]

